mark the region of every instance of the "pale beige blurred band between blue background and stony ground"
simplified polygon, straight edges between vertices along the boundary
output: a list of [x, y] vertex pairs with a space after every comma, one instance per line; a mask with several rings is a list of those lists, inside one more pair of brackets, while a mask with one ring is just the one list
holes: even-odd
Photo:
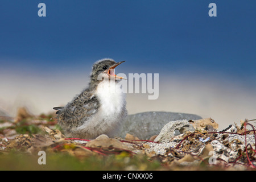
[[[89, 75], [86, 75], [87, 78], [79, 76], [76, 82], [73, 81], [74, 75], [56, 80], [20, 77], [14, 81], [9, 77], [12, 81], [0, 82], [8, 88], [1, 92], [5, 98], [0, 98], [0, 109], [5, 109], [13, 117], [23, 106], [35, 115], [53, 113], [55, 110], [52, 107], [64, 106], [88, 85]], [[241, 82], [228, 81], [196, 76], [188, 80], [188, 77], [179, 74], [164, 78], [160, 74], [159, 98], [148, 100], [148, 93], [127, 93], [127, 110], [129, 114], [171, 111], [211, 117], [220, 129], [234, 122], [240, 123], [240, 119], [254, 119], [256, 89]]]

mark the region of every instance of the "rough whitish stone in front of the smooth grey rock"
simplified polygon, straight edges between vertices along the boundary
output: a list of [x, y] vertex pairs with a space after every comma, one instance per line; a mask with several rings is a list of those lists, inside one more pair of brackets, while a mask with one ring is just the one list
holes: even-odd
[[154, 142], [168, 143], [172, 138], [183, 134], [186, 131], [195, 131], [187, 119], [168, 122], [166, 125], [164, 125]]

